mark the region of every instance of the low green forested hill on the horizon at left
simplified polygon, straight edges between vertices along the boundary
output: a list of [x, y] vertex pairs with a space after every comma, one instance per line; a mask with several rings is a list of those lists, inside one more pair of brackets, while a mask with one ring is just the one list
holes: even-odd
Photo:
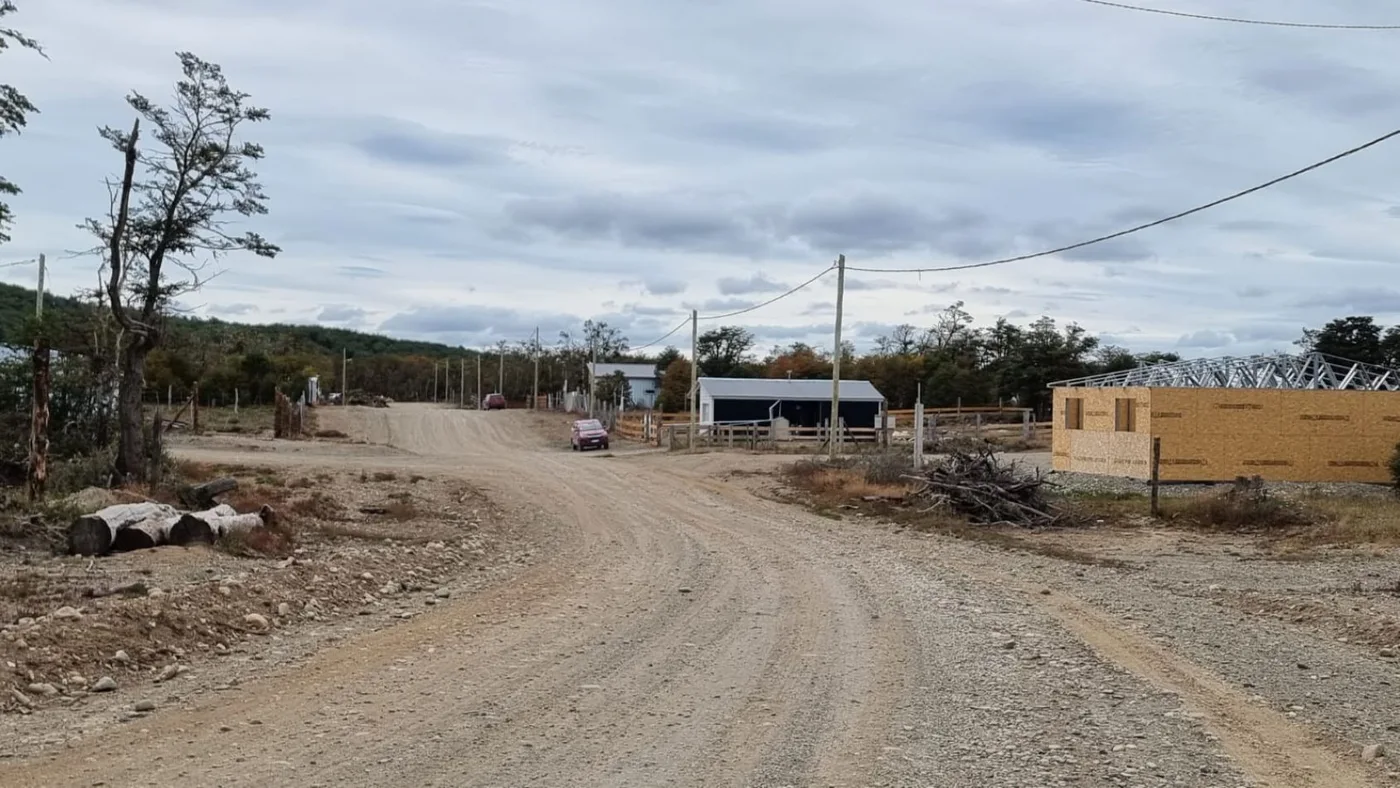
[[[34, 315], [35, 293], [28, 287], [0, 283], [0, 344], [24, 344], [25, 323]], [[80, 318], [90, 309], [76, 298], [48, 295], [43, 309], [52, 316], [71, 315]], [[171, 336], [185, 342], [224, 340], [235, 335], [249, 347], [266, 353], [316, 353], [339, 356], [342, 350], [350, 356], [426, 356], [459, 357], [462, 349], [433, 342], [392, 339], [379, 335], [337, 329], [328, 326], [307, 326], [288, 323], [232, 323], [217, 319], [172, 318]]]

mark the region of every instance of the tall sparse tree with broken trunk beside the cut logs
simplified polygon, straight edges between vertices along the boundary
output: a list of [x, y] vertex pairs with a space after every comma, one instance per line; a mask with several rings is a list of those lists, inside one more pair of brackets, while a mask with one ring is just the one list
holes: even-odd
[[[256, 232], [237, 234], [237, 217], [267, 213], [252, 164], [263, 148], [238, 139], [239, 126], [266, 120], [266, 109], [228, 87], [221, 69], [179, 53], [183, 78], [171, 108], [133, 92], [132, 130], [101, 130], [122, 153], [122, 178], [108, 181], [105, 220], [84, 227], [102, 242], [105, 300], [122, 330], [116, 470], [144, 480], [141, 392], [146, 358], [160, 347], [175, 298], [199, 290], [217, 272], [210, 262], [230, 252], [273, 258], [280, 249]], [[154, 141], [140, 146], [141, 122]]]

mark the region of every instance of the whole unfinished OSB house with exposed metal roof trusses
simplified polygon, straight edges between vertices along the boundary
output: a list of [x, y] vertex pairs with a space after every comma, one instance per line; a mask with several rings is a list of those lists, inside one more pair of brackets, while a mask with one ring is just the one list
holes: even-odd
[[1400, 371], [1320, 353], [1205, 358], [1051, 384], [1056, 470], [1163, 481], [1390, 480]]

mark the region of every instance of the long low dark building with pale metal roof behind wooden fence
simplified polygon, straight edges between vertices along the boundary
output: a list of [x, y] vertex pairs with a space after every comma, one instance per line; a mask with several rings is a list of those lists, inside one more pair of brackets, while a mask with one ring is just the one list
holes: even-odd
[[[700, 424], [788, 420], [820, 427], [832, 417], [832, 381], [784, 378], [700, 378]], [[876, 427], [885, 395], [869, 381], [841, 381], [841, 418], [847, 427]]]

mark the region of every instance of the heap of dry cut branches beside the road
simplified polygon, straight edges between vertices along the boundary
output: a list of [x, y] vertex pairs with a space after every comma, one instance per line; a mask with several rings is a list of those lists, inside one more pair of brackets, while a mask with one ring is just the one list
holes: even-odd
[[907, 479], [918, 484], [911, 498], [932, 504], [925, 511], [952, 511], [979, 525], [1046, 528], [1064, 516], [1046, 500], [1047, 481], [1039, 472], [1028, 474], [1004, 465], [991, 448], [953, 449]]

